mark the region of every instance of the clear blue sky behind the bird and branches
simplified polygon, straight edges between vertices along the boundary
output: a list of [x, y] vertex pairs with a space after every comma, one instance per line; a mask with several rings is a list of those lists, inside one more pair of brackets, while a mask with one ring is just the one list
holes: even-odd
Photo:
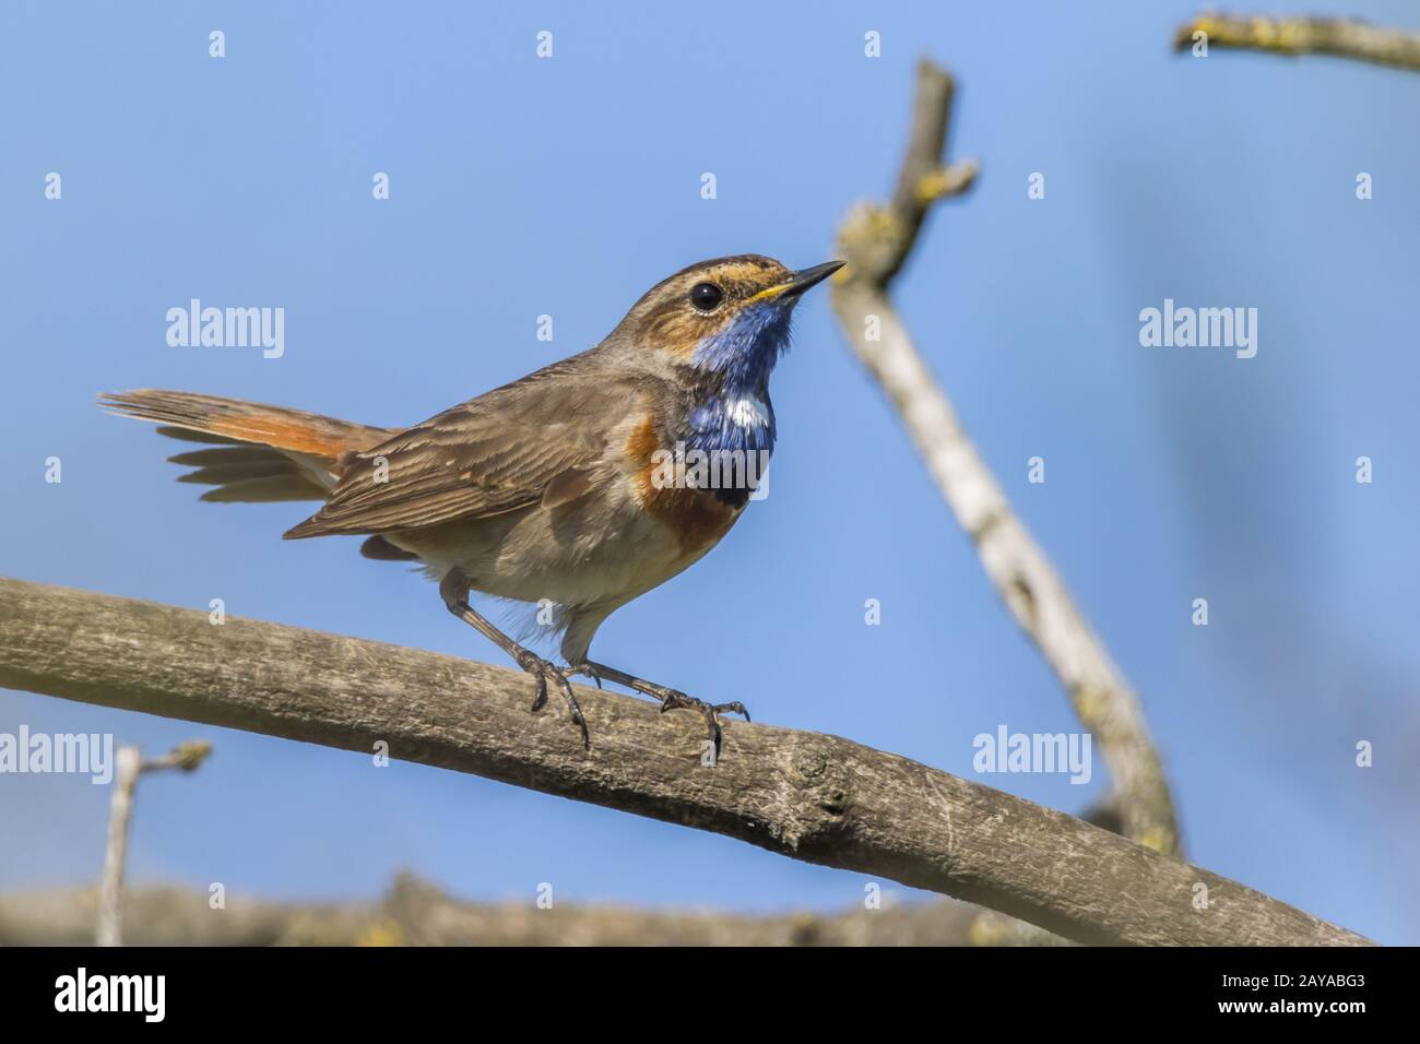
[[[0, 574], [500, 662], [402, 567], [283, 543], [302, 504], [199, 503], [173, 443], [94, 395], [413, 423], [595, 344], [692, 261], [822, 261], [845, 209], [890, 189], [929, 54], [958, 77], [953, 149], [983, 173], [932, 217], [897, 300], [1140, 692], [1190, 857], [1420, 942], [1420, 77], [1173, 55], [1194, 11], [6, 4]], [[1420, 28], [1403, 3], [1346, 11]], [[284, 307], [285, 354], [170, 348], [165, 312], [192, 297]], [[1142, 348], [1139, 311], [1164, 298], [1258, 308], [1257, 358]], [[770, 497], [612, 616], [599, 658], [968, 777], [977, 733], [1069, 732], [824, 294], [772, 392]], [[746, 910], [841, 908], [866, 881], [474, 777], [0, 693], [0, 730], [20, 723], [213, 740], [197, 776], [145, 781], [138, 881], [338, 898], [410, 868], [469, 898], [547, 881], [559, 901]], [[976, 778], [1065, 810], [1105, 783]], [[0, 778], [0, 889], [95, 879], [105, 814], [87, 780]]]

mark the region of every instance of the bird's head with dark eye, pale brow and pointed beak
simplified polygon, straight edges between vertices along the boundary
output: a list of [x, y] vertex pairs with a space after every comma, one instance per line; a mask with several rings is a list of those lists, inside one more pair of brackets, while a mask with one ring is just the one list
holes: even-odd
[[829, 261], [791, 271], [760, 254], [700, 261], [648, 290], [618, 334], [638, 351], [663, 352], [726, 385], [764, 386], [788, 348], [794, 305], [842, 267]]

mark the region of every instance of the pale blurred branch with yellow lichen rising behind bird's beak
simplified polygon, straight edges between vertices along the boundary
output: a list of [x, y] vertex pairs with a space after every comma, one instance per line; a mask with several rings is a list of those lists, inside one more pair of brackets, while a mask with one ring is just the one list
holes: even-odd
[[971, 161], [943, 166], [951, 95], [951, 77], [923, 61], [893, 199], [886, 206], [856, 206], [839, 229], [848, 267], [832, 283], [834, 308], [858, 358], [897, 409], [937, 489], [976, 544], [997, 592], [1065, 686], [1081, 723], [1093, 733], [1115, 781], [1113, 811], [1123, 832], [1174, 852], [1179, 828], [1173, 801], [1139, 697], [1011, 510], [888, 297], [927, 209], [964, 192], [976, 173]]

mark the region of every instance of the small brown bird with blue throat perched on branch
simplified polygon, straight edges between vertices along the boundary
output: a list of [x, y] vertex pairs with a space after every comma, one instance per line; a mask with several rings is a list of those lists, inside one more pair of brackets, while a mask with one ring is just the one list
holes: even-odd
[[[366, 558], [422, 564], [449, 611], [534, 676], [532, 710], [550, 682], [558, 687], [584, 746], [575, 675], [653, 696], [662, 710], [697, 710], [719, 751], [719, 716], [748, 719], [741, 703], [693, 699], [588, 651], [615, 609], [700, 560], [744, 513], [751, 482], [682, 482], [683, 463], [693, 452], [767, 460], [770, 374], [790, 317], [839, 267], [790, 271], [758, 254], [692, 264], [646, 291], [595, 348], [413, 428], [192, 392], [101, 402], [162, 435], [214, 443], [170, 457], [196, 469], [179, 482], [216, 487], [203, 500], [324, 500], [287, 540], [359, 534]], [[568, 668], [474, 612], [470, 591], [555, 605]]]

